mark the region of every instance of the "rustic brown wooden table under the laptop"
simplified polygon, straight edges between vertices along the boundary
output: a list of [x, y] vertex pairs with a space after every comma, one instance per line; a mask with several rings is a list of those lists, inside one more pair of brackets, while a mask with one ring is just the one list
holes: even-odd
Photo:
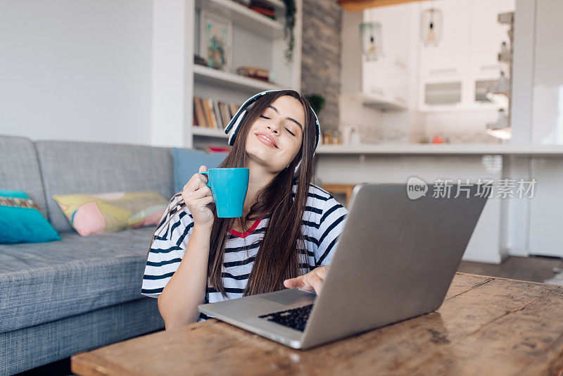
[[72, 356], [79, 375], [562, 375], [563, 287], [456, 273], [434, 313], [308, 351], [210, 319]]

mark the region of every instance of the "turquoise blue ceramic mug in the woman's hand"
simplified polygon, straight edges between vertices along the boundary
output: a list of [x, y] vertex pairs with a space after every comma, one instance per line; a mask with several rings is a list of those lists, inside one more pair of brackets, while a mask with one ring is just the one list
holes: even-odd
[[248, 168], [210, 168], [200, 174], [207, 176], [211, 188], [217, 217], [242, 217], [244, 199], [248, 189]]

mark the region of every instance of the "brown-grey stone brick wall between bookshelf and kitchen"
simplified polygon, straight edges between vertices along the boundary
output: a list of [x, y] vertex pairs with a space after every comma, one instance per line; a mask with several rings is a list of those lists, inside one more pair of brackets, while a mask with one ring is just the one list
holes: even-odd
[[324, 96], [322, 132], [339, 124], [342, 12], [336, 0], [303, 0], [301, 92]]

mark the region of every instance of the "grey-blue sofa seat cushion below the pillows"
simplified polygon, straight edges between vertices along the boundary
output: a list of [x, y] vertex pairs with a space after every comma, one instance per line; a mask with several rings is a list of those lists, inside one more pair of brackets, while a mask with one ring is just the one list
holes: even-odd
[[0, 333], [139, 299], [155, 230], [0, 245]]

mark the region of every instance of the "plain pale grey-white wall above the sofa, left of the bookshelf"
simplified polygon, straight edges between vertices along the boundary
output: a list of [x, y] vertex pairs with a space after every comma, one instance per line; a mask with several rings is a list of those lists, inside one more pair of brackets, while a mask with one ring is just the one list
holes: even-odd
[[151, 6], [0, 1], [0, 134], [148, 144]]

